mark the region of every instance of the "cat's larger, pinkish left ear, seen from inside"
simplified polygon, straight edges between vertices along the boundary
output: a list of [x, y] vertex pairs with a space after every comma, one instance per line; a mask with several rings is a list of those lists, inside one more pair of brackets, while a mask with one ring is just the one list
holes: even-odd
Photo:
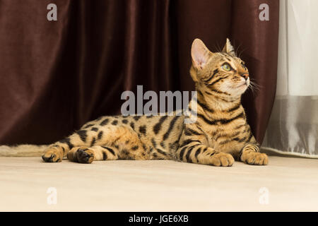
[[191, 57], [192, 57], [192, 64], [196, 69], [203, 69], [208, 62], [208, 59], [211, 57], [211, 52], [205, 46], [205, 44], [196, 38], [192, 42], [191, 47]]

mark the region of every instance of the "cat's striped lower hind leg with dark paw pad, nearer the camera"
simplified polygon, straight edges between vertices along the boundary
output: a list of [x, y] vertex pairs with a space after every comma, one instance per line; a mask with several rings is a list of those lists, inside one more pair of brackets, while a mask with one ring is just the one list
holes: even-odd
[[75, 147], [67, 153], [72, 162], [91, 163], [94, 160], [117, 160], [118, 148], [94, 145], [92, 147]]

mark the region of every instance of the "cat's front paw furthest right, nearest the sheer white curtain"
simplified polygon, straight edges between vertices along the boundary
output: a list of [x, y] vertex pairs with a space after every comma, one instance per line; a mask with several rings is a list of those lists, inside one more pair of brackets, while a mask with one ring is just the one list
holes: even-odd
[[259, 145], [257, 143], [247, 143], [240, 151], [240, 160], [249, 165], [269, 164], [269, 157], [264, 153], [259, 153]]

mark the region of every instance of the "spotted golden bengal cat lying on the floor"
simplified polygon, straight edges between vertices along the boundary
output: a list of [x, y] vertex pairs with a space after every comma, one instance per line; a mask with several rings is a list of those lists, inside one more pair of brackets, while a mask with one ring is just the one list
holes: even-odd
[[[96, 160], [177, 160], [232, 166], [234, 160], [267, 165], [266, 154], [247, 124], [241, 95], [250, 85], [249, 71], [227, 39], [222, 52], [210, 52], [196, 39], [190, 74], [197, 100], [187, 116], [106, 116], [89, 121], [71, 136], [47, 146], [42, 159], [61, 162]], [[194, 112], [194, 105], [196, 111]], [[184, 119], [196, 116], [192, 124]]]

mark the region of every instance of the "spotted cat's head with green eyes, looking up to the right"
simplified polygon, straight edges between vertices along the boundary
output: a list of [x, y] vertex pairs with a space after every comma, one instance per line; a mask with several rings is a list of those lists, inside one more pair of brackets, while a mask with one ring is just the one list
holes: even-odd
[[211, 52], [204, 42], [196, 39], [191, 55], [190, 73], [199, 90], [240, 97], [249, 87], [249, 71], [245, 62], [236, 56], [230, 40], [226, 39], [222, 52]]

